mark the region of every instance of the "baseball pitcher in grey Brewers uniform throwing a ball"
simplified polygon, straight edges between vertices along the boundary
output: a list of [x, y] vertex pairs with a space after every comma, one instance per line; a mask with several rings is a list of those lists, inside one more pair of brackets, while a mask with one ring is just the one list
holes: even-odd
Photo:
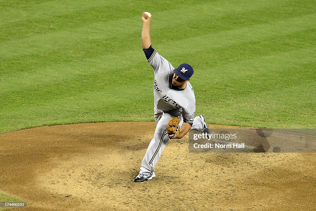
[[193, 68], [181, 64], [174, 68], [151, 47], [151, 15], [143, 12], [142, 46], [154, 69], [154, 115], [156, 129], [143, 158], [139, 174], [132, 180], [145, 182], [155, 177], [155, 164], [169, 139], [181, 139], [189, 130], [209, 133], [204, 116], [195, 115], [195, 96], [189, 82]]

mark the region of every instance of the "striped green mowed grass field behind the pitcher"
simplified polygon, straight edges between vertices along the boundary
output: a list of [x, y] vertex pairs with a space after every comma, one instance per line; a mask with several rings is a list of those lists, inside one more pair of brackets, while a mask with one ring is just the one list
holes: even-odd
[[208, 123], [316, 127], [315, 1], [0, 1], [0, 133], [153, 121], [141, 47], [189, 63]]

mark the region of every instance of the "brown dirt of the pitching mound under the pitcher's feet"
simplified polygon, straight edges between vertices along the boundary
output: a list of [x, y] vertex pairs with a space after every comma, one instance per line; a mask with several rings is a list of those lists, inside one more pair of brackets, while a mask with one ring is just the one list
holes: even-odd
[[27, 202], [16, 210], [316, 206], [315, 153], [189, 153], [185, 137], [169, 141], [155, 166], [156, 177], [131, 182], [154, 130], [154, 122], [109, 122], [0, 134], [0, 192]]

